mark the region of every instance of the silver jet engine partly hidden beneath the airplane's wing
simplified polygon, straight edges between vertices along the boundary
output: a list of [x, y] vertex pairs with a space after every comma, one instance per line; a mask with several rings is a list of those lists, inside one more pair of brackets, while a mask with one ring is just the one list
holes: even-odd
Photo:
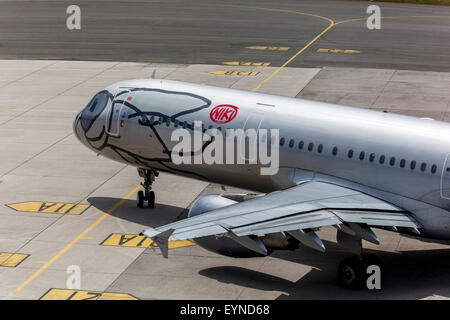
[[[237, 202], [248, 199], [247, 195], [206, 195], [197, 199], [189, 210], [189, 217], [227, 207]], [[233, 200], [232, 200], [233, 199]], [[235, 201], [238, 200], [238, 201]], [[240, 201], [239, 201], [240, 200]], [[298, 241], [281, 233], [268, 234], [259, 239], [267, 248], [268, 254], [273, 250], [298, 248]], [[261, 257], [260, 253], [246, 248], [227, 236], [206, 236], [195, 238], [193, 241], [200, 247], [233, 258]]]

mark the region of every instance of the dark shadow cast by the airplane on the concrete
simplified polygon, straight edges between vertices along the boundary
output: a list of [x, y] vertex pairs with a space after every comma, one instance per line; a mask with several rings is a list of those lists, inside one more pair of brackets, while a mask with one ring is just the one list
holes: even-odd
[[[95, 208], [107, 212], [121, 200], [91, 197], [88, 202]], [[146, 227], [157, 227], [184, 219], [187, 213], [188, 210], [185, 208], [160, 203], [156, 203], [154, 209], [140, 209], [134, 200], [125, 200], [111, 216]], [[450, 249], [397, 253], [365, 250], [378, 255], [384, 263], [382, 289], [348, 290], [338, 285], [336, 271], [340, 261], [351, 254], [342, 252], [342, 247], [334, 242], [326, 240], [323, 242], [331, 252], [321, 254], [302, 246], [295, 251], [277, 251], [272, 254], [272, 258], [303, 265], [301, 268], [311, 267], [295, 282], [234, 266], [207, 268], [200, 270], [199, 274], [245, 288], [282, 292], [277, 299], [421, 299], [433, 295], [450, 297]]]

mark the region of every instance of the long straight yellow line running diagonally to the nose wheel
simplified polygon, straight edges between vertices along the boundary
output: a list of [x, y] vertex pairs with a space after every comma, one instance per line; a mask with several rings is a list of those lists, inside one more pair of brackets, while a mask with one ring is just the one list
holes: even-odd
[[82, 233], [80, 233], [75, 239], [72, 240], [67, 246], [65, 246], [60, 252], [56, 254], [53, 258], [51, 258], [45, 265], [43, 265], [39, 270], [37, 270], [31, 277], [29, 277], [25, 282], [23, 282], [20, 286], [18, 286], [13, 293], [18, 294], [23, 288], [25, 288], [31, 281], [33, 281], [37, 276], [39, 276], [44, 270], [46, 270], [48, 267], [50, 267], [53, 262], [58, 260], [64, 253], [66, 253], [70, 248], [73, 247], [74, 244], [76, 244], [78, 241], [83, 239], [92, 229], [94, 229], [97, 225], [99, 225], [103, 220], [106, 219], [111, 213], [117, 210], [124, 202], [130, 198], [133, 194], [135, 194], [141, 186], [137, 186], [134, 188], [133, 191], [131, 191], [129, 194], [127, 194], [122, 200], [117, 202], [109, 211], [105, 212], [100, 218], [98, 218], [93, 224], [91, 224], [86, 230], [84, 230]]

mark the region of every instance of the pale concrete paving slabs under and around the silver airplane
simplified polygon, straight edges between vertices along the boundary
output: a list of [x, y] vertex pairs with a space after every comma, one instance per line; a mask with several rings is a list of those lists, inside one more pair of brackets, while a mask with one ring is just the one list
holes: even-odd
[[[0, 298], [2, 299], [443, 299], [448, 244], [377, 231], [364, 243], [386, 265], [382, 290], [348, 291], [335, 280], [349, 255], [320, 236], [302, 247], [233, 259], [173, 243], [163, 259], [147, 227], [185, 217], [209, 193], [236, 191], [160, 174], [155, 209], [138, 209], [136, 169], [97, 157], [74, 137], [75, 114], [103, 87], [127, 78], [186, 80], [255, 89], [271, 66], [0, 61]], [[220, 73], [217, 71], [238, 71]], [[450, 121], [450, 73], [395, 69], [283, 68], [258, 91]], [[424, 120], [429, 121], [429, 120]], [[80, 271], [80, 290], [67, 289]]]

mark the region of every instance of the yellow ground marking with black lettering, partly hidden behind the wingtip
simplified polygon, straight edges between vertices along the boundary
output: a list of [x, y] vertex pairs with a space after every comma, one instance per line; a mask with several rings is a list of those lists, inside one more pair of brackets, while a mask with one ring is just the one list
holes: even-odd
[[[135, 247], [135, 248], [158, 248], [152, 239], [146, 236], [139, 236], [136, 234], [113, 233], [106, 238], [102, 246], [116, 246], [116, 247]], [[169, 249], [195, 246], [195, 243], [189, 240], [175, 240], [169, 241]]]

